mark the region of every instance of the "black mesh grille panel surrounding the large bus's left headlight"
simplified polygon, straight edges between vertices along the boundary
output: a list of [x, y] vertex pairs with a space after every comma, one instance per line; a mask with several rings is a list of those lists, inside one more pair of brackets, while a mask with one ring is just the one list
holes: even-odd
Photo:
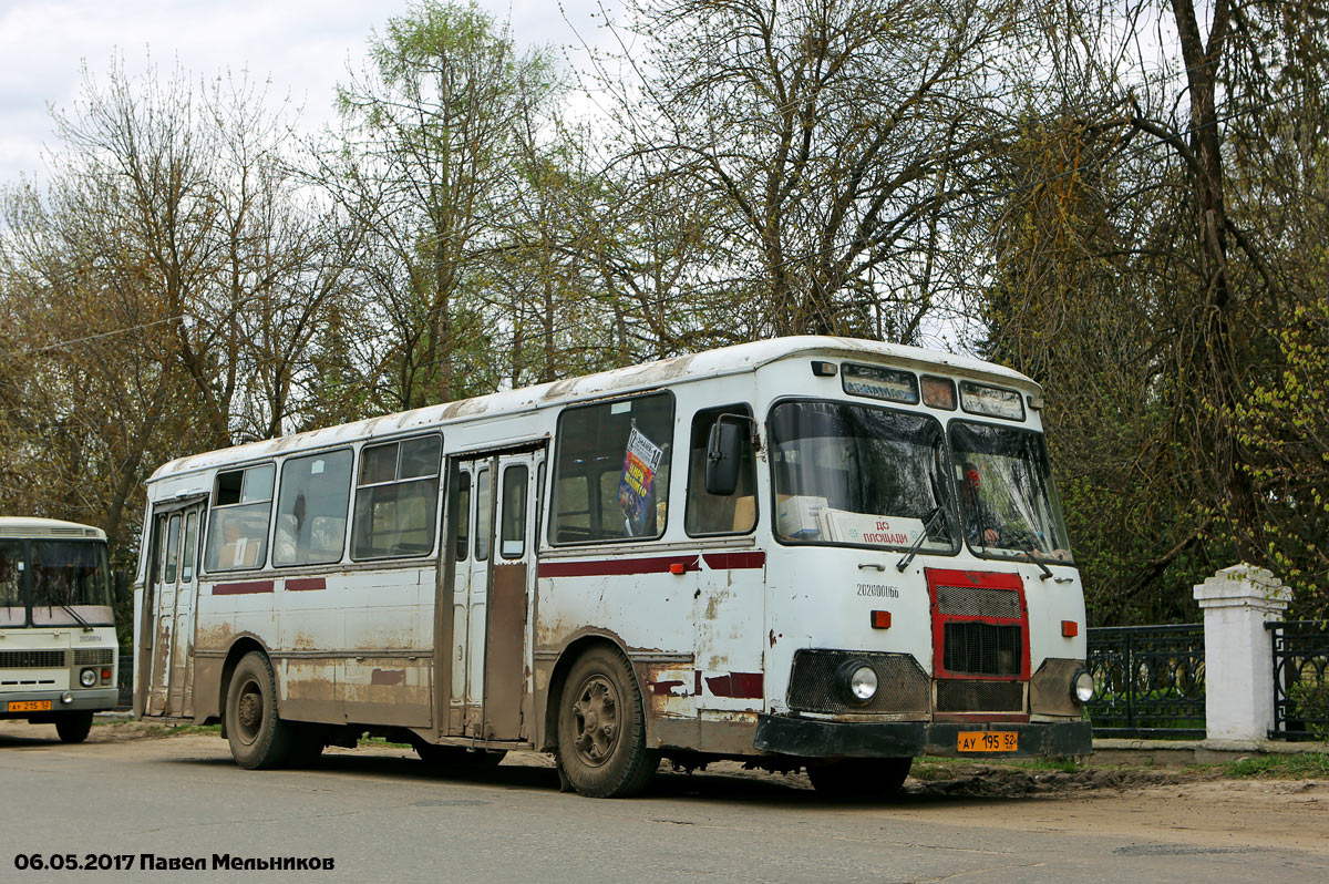
[[[870, 702], [851, 705], [841, 698], [836, 671], [861, 659], [877, 671], [880, 689]], [[892, 713], [926, 717], [930, 706], [928, 674], [910, 654], [877, 651], [799, 650], [793, 653], [787, 699], [800, 713]]]

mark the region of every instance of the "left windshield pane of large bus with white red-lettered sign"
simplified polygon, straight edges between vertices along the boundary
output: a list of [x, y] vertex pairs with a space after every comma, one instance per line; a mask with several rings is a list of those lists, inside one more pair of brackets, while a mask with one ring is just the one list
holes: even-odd
[[928, 415], [789, 401], [771, 412], [784, 541], [956, 552], [945, 435]]

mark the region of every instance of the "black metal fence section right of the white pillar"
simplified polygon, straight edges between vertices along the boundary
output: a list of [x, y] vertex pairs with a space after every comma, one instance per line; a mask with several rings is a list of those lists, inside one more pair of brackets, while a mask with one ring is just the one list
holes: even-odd
[[1264, 625], [1273, 638], [1271, 739], [1329, 739], [1329, 630], [1321, 621]]

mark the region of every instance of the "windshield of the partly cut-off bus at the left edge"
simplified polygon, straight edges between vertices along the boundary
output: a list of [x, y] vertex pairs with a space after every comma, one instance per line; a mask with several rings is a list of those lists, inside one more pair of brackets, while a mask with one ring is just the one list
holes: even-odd
[[[77, 618], [64, 610], [80, 609], [84, 621], [110, 622], [110, 577], [106, 545], [69, 540], [0, 542], [0, 622], [27, 622], [24, 609], [32, 609], [35, 625], [73, 625]], [[88, 610], [88, 609], [101, 610]]]

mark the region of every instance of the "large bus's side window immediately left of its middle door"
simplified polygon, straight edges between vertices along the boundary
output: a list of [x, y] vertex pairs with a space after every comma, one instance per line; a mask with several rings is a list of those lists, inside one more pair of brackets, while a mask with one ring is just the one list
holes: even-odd
[[433, 552], [441, 451], [437, 433], [360, 449], [351, 558]]

